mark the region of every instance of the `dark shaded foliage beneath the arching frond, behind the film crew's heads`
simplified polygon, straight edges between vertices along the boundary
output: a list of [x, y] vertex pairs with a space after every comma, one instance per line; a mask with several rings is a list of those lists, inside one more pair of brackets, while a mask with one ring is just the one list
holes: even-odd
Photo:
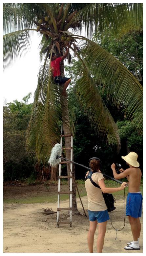
[[[75, 67], [77, 68], [77, 64], [75, 64]], [[142, 170], [142, 135], [138, 134], [131, 121], [124, 120], [124, 113], [121, 115], [120, 111], [112, 106], [109, 101], [107, 102], [110, 111], [114, 113], [121, 140], [120, 153], [116, 153], [113, 147], [107, 147], [106, 141], [100, 139], [96, 129], [91, 126], [90, 118], [81, 108], [80, 102], [75, 96], [74, 88], [68, 90], [68, 95], [69, 107], [74, 111], [76, 120], [76, 132], [73, 138], [74, 161], [88, 167], [89, 159], [96, 156], [102, 161], [102, 172], [112, 176], [111, 164], [113, 162], [121, 163], [123, 168], [127, 168], [121, 156], [127, 155], [130, 151], [135, 151], [138, 154], [138, 161]], [[120, 121], [118, 121], [119, 119]], [[76, 178], [84, 178], [86, 171], [86, 169], [75, 165]]]

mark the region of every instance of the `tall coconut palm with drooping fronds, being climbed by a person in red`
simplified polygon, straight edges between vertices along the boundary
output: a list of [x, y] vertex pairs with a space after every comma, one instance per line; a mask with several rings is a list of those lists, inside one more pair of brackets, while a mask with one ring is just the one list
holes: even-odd
[[[54, 84], [49, 53], [63, 55], [68, 42], [74, 56], [82, 62], [78, 74], [76, 94], [86, 106], [91, 122], [100, 137], [107, 142], [120, 139], [115, 122], [104, 104], [90, 67], [96, 78], [102, 79], [117, 107], [125, 103], [126, 115], [142, 131], [142, 87], [136, 78], [111, 54], [91, 40], [92, 34], [112, 30], [117, 37], [142, 30], [142, 4], [4, 4], [4, 68], [26, 52], [30, 46], [30, 33], [40, 35], [40, 58], [45, 59], [38, 74], [31, 120], [27, 130], [27, 151], [37, 159], [45, 159], [55, 143], [60, 141], [60, 122], [64, 134], [73, 132], [67, 96]], [[68, 55], [71, 61], [71, 54]], [[64, 64], [61, 63], [61, 75]], [[65, 147], [71, 145], [65, 137]], [[70, 157], [70, 151], [66, 158]], [[70, 166], [67, 165], [68, 174]], [[74, 170], [73, 170], [74, 175]], [[77, 212], [73, 187], [73, 212]]]

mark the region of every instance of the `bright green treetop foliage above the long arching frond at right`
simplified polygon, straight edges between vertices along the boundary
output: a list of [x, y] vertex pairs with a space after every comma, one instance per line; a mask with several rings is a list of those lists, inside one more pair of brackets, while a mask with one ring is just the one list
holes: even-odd
[[[110, 40], [109, 40], [110, 37]], [[101, 37], [94, 35], [93, 39], [102, 48], [114, 55], [142, 84], [143, 81], [143, 34], [135, 32], [123, 35], [120, 39], [114, 34]]]

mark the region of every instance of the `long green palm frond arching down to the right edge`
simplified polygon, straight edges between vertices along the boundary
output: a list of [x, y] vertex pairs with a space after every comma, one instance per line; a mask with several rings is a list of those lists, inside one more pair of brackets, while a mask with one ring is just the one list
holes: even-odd
[[130, 71], [113, 55], [93, 41], [82, 40], [80, 50], [92, 75], [104, 81], [113, 105], [124, 106], [125, 116], [135, 118], [142, 132], [143, 88]]

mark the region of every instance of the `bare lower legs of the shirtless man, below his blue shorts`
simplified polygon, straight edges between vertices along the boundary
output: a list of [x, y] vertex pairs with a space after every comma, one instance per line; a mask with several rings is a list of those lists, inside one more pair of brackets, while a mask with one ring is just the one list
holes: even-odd
[[133, 235], [133, 240], [137, 241], [137, 238], [140, 237], [140, 231], [141, 231], [141, 223], [139, 218], [134, 218], [132, 216], [128, 216], [129, 223], [131, 225], [131, 231]]

